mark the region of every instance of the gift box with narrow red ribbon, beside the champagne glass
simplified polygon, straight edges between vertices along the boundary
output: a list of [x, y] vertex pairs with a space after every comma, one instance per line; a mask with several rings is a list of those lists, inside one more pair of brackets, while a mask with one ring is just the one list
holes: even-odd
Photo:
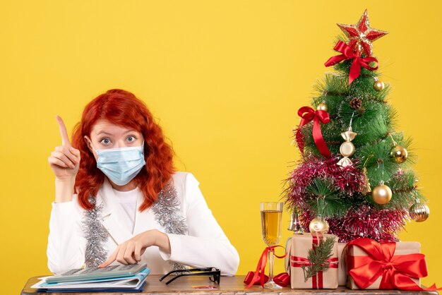
[[[309, 249], [314, 249], [324, 239], [335, 239], [332, 253], [325, 262], [328, 268], [313, 277], [305, 278], [304, 269], [311, 266]], [[304, 266], [304, 268], [303, 268]], [[292, 289], [336, 289], [338, 288], [338, 237], [332, 234], [294, 234], [290, 251], [290, 283]]]

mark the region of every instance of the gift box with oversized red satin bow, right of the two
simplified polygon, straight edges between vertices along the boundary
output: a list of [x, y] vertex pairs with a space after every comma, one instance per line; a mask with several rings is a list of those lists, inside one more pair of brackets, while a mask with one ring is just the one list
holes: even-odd
[[422, 289], [420, 278], [426, 277], [425, 256], [420, 243], [378, 243], [360, 238], [347, 243], [346, 255], [350, 289], [398, 289], [434, 291], [436, 286]]

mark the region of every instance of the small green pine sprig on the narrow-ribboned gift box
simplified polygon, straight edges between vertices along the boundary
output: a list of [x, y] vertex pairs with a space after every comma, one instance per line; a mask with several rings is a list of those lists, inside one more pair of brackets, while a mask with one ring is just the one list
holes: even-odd
[[327, 270], [330, 263], [327, 262], [328, 258], [333, 254], [333, 245], [335, 244], [335, 237], [328, 236], [324, 241], [319, 243], [314, 249], [309, 249], [309, 266], [302, 265], [304, 271], [304, 282], [318, 272]]

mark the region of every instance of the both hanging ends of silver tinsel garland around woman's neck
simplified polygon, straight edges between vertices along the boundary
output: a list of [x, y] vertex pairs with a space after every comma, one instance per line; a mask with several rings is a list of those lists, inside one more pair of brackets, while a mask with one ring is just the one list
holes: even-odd
[[[85, 232], [86, 267], [95, 267], [107, 259], [105, 243], [109, 233], [101, 223], [102, 205], [95, 206], [95, 198], [90, 197], [90, 203], [94, 205], [92, 210], [85, 212], [83, 217], [83, 231]], [[186, 219], [180, 215], [180, 204], [177, 200], [177, 190], [172, 179], [158, 193], [157, 201], [152, 206], [155, 219], [158, 224], [164, 227], [167, 234], [187, 234], [188, 228]], [[186, 266], [181, 263], [171, 263], [172, 270], [185, 270]]]

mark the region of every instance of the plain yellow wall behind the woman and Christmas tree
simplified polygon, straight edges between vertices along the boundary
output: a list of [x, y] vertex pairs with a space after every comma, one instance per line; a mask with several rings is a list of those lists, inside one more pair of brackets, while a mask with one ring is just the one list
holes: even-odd
[[423, 282], [442, 285], [440, 1], [1, 0], [1, 293], [49, 272], [55, 115], [71, 131], [85, 104], [110, 88], [148, 104], [177, 167], [201, 181], [239, 251], [238, 274], [254, 269], [264, 247], [259, 202], [280, 199], [299, 159], [290, 145], [297, 109], [330, 71], [323, 63], [335, 54], [335, 23], [356, 23], [364, 8], [374, 28], [390, 32], [374, 53], [430, 200], [429, 220], [400, 238], [422, 243]]

